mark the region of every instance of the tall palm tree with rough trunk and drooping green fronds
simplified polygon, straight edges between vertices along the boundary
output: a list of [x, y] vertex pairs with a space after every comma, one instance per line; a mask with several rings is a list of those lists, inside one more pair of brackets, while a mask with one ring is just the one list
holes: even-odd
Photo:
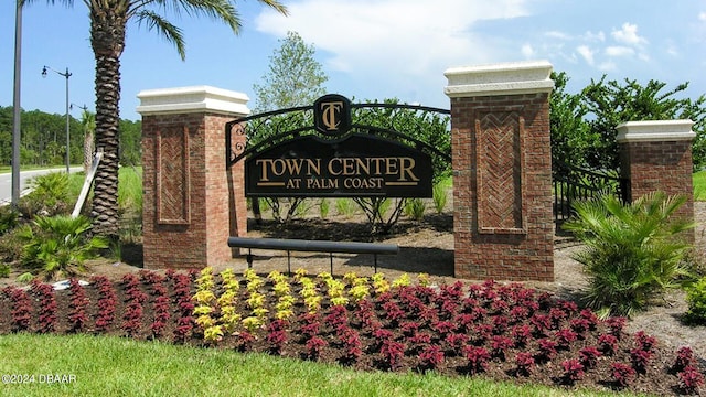
[[[20, 0], [22, 1], [22, 0]], [[34, 0], [23, 0], [31, 3]], [[56, 0], [46, 0], [54, 4]], [[117, 239], [118, 236], [118, 130], [120, 110], [120, 55], [125, 50], [125, 33], [129, 21], [145, 23], [174, 44], [185, 57], [181, 30], [168, 21], [164, 12], [205, 15], [226, 23], [234, 33], [240, 19], [234, 0], [83, 0], [90, 18], [90, 46], [96, 60], [96, 146], [103, 149], [103, 160], [96, 173], [90, 215], [94, 233]], [[287, 9], [278, 0], [258, 0], [282, 14]], [[72, 7], [73, 0], [61, 0]], [[162, 14], [160, 14], [160, 12]]]

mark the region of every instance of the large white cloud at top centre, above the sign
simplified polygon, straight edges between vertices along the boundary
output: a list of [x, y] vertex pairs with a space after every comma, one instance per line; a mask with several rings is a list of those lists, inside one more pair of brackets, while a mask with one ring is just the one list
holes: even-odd
[[459, 64], [495, 62], [500, 50], [473, 26], [482, 20], [526, 15], [525, 2], [300, 0], [287, 4], [287, 18], [265, 9], [256, 19], [256, 29], [277, 36], [298, 32], [330, 54], [325, 63], [333, 69], [373, 73], [381, 67], [396, 68], [408, 78]]

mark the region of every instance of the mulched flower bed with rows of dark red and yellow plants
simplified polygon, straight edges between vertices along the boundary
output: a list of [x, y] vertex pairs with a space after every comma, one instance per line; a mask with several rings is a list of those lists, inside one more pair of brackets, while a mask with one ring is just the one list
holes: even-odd
[[435, 371], [559, 387], [704, 391], [691, 348], [664, 348], [625, 320], [520, 283], [429, 286], [328, 273], [150, 271], [94, 277], [65, 291], [34, 283], [0, 293], [0, 333], [86, 332], [341, 363]]

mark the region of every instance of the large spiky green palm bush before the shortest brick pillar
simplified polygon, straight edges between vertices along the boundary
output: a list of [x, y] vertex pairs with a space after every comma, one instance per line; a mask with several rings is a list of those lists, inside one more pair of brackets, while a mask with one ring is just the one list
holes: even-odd
[[691, 245], [680, 234], [694, 223], [673, 216], [685, 201], [655, 192], [630, 204], [603, 195], [574, 205], [564, 228], [585, 244], [575, 259], [589, 277], [586, 303], [601, 316], [631, 315], [688, 279]]

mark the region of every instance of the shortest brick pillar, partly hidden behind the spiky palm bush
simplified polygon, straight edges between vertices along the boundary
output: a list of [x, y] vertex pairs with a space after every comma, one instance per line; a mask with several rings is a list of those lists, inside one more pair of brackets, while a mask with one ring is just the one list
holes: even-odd
[[[635, 200], [662, 191], [684, 194], [686, 203], [677, 214], [694, 219], [692, 181], [692, 120], [629, 121], [618, 126], [621, 173], [630, 179], [628, 196]], [[686, 239], [694, 243], [694, 233]]]

